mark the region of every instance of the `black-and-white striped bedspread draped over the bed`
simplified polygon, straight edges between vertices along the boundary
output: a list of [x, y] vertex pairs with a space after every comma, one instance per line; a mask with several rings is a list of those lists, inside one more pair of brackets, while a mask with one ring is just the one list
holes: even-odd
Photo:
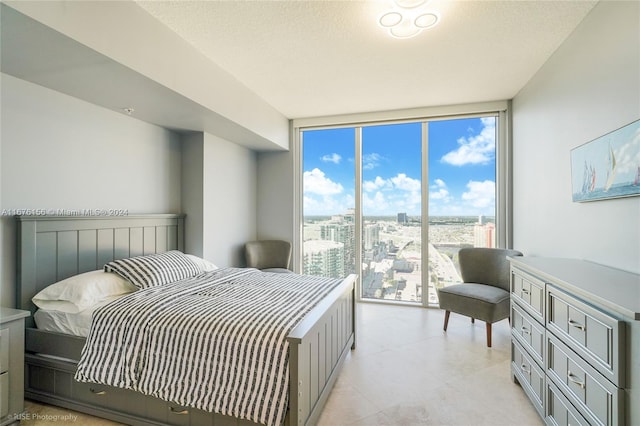
[[340, 282], [224, 268], [139, 290], [95, 312], [75, 379], [279, 425], [286, 336]]

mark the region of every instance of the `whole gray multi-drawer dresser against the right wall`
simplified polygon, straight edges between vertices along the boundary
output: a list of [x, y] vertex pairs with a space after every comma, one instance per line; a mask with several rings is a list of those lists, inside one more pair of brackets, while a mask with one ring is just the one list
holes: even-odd
[[640, 424], [640, 275], [511, 260], [511, 373], [549, 425]]

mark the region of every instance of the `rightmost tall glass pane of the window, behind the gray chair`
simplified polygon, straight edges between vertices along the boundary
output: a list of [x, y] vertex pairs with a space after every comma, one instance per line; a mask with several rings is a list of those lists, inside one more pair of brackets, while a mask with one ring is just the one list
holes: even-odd
[[462, 247], [495, 247], [495, 117], [429, 123], [429, 298], [460, 282]]

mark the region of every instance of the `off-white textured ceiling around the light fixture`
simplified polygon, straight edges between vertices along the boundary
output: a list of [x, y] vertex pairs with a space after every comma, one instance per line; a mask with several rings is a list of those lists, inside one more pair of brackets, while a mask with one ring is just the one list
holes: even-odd
[[511, 99], [596, 3], [431, 0], [396, 39], [391, 0], [138, 1], [288, 118]]

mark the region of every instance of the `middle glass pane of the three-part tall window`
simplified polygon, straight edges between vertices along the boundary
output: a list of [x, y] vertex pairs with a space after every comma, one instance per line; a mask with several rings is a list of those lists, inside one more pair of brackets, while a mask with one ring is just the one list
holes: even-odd
[[362, 130], [362, 297], [421, 303], [420, 123]]

